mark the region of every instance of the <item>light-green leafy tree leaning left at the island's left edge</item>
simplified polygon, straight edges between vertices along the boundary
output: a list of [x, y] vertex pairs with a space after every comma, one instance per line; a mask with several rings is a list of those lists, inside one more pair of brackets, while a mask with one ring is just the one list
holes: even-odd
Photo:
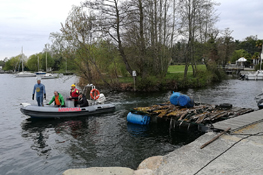
[[72, 8], [65, 25], [62, 24], [61, 28], [63, 39], [69, 43], [65, 51], [72, 59], [72, 63], [78, 67], [77, 73], [88, 79], [89, 83], [102, 80], [108, 87], [111, 87], [94, 57], [96, 41], [92, 41], [92, 34], [96, 32], [93, 32], [93, 20], [94, 17], [87, 15], [83, 7]]

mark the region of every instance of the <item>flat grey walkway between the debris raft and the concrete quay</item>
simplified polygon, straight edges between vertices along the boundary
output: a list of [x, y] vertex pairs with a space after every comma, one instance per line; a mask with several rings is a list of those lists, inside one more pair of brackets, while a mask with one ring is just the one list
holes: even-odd
[[225, 130], [230, 127], [231, 131], [234, 131], [260, 121], [263, 121], [263, 110], [257, 110], [224, 121], [216, 122], [213, 126], [215, 129], [219, 130]]

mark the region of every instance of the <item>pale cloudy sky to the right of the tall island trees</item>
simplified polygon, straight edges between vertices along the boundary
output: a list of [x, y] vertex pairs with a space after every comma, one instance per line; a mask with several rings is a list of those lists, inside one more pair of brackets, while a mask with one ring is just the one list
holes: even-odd
[[221, 5], [217, 7], [220, 21], [217, 27], [221, 30], [233, 30], [234, 39], [244, 40], [248, 36], [263, 39], [262, 0], [217, 0]]

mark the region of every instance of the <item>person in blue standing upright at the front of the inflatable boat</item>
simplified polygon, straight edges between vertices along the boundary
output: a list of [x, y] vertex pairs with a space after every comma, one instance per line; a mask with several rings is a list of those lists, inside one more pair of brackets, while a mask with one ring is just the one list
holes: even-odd
[[45, 90], [45, 85], [41, 84], [41, 78], [37, 78], [37, 84], [35, 84], [33, 89], [32, 100], [34, 100], [35, 91], [36, 91], [37, 105], [44, 106], [43, 94], [44, 94], [44, 99], [46, 99], [46, 90]]

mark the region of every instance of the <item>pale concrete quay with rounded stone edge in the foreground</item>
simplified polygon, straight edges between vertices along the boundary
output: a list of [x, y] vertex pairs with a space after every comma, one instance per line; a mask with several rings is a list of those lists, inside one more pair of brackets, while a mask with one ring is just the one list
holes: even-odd
[[[261, 110], [255, 112], [255, 114], [263, 114]], [[252, 113], [246, 115], [253, 115]], [[200, 149], [204, 143], [218, 135], [215, 132], [207, 132], [164, 156], [145, 159], [137, 170], [125, 167], [91, 167], [68, 169], [63, 175], [261, 174], [262, 133], [263, 120], [260, 120], [224, 134]]]

